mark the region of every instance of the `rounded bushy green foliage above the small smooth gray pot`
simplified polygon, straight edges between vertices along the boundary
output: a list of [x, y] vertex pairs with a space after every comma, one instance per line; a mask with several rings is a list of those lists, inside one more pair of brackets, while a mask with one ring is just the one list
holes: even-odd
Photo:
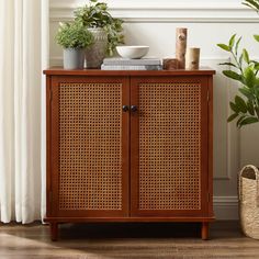
[[57, 43], [64, 48], [86, 48], [93, 43], [92, 34], [77, 21], [59, 23]]

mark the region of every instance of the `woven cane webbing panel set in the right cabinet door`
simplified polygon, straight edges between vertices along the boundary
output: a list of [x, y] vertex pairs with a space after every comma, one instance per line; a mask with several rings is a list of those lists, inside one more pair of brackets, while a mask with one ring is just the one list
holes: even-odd
[[201, 85], [139, 85], [139, 210], [201, 210]]

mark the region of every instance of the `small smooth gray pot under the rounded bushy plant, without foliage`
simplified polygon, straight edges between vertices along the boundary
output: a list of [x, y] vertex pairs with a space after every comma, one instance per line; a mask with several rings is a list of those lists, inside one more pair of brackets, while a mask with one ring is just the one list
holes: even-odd
[[85, 48], [65, 48], [64, 69], [83, 69]]

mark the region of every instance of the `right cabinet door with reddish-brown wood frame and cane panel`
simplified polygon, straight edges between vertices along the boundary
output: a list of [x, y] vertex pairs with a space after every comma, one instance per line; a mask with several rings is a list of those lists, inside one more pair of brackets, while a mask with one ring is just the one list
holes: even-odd
[[132, 216], [207, 214], [207, 85], [198, 76], [132, 80]]

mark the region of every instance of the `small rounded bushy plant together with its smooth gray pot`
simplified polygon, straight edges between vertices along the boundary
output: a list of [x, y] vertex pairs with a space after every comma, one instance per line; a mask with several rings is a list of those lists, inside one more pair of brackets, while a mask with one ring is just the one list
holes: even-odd
[[93, 43], [87, 27], [77, 21], [59, 23], [56, 41], [64, 48], [64, 68], [83, 69], [86, 47]]

